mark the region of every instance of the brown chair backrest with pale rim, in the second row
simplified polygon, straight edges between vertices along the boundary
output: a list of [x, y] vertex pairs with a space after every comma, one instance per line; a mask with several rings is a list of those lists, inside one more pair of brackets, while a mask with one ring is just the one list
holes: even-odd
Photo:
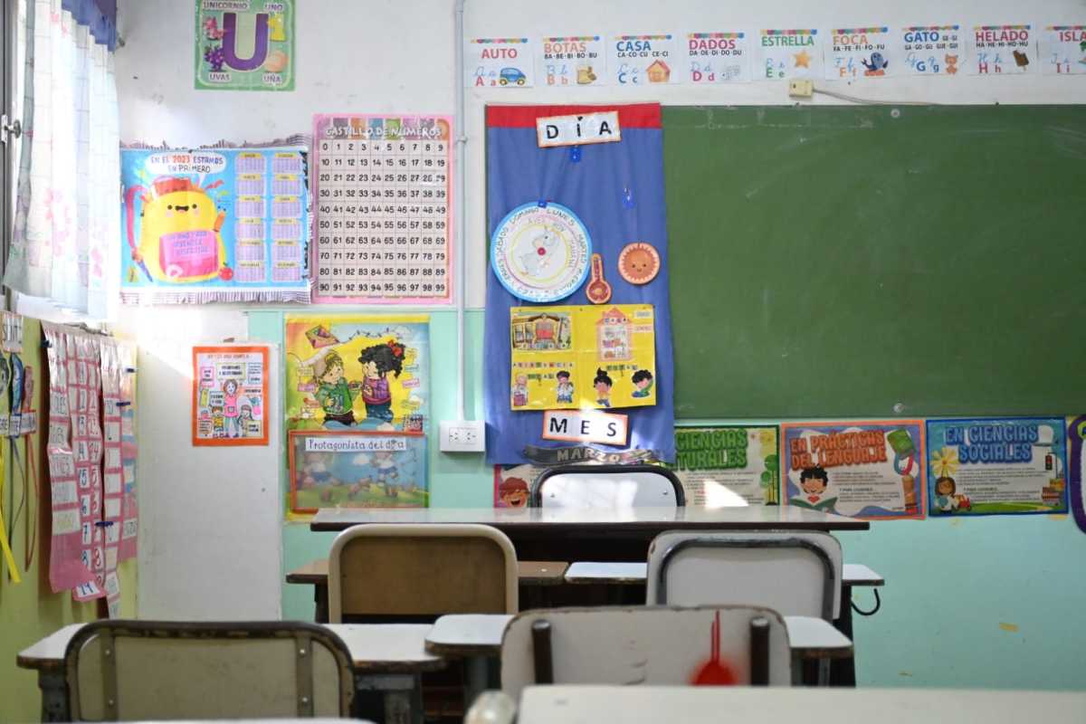
[[489, 525], [369, 523], [336, 536], [328, 620], [516, 613], [517, 554]]

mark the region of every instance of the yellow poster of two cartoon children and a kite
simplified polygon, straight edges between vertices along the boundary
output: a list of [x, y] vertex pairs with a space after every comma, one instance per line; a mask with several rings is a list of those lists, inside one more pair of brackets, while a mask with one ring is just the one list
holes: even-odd
[[287, 427], [425, 432], [425, 315], [293, 316], [286, 321]]

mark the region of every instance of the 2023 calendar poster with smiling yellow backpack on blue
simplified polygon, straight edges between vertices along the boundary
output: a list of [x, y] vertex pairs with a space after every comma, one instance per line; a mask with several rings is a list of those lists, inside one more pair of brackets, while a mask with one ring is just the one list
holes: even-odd
[[306, 155], [123, 149], [122, 301], [308, 302]]

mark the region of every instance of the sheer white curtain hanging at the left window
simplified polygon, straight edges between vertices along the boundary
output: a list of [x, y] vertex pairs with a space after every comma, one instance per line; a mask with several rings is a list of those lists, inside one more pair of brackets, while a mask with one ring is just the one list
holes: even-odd
[[27, 3], [24, 136], [3, 281], [104, 319], [121, 238], [113, 54], [61, 0]]

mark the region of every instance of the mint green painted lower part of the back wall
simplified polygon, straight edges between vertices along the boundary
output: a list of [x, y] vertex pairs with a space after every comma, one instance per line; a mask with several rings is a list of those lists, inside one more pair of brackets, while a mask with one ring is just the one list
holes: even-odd
[[[482, 320], [481, 312], [468, 313], [473, 373], [466, 399], [476, 418]], [[281, 314], [251, 314], [250, 333], [281, 343]], [[432, 314], [430, 333], [435, 424], [452, 417], [455, 405], [455, 315]], [[492, 472], [482, 457], [435, 448], [430, 445], [432, 505], [490, 505]], [[333, 535], [285, 523], [286, 570], [326, 556]], [[1086, 534], [1070, 517], [883, 521], [838, 537], [845, 560], [866, 563], [887, 581], [882, 610], [855, 620], [860, 685], [1086, 689]], [[285, 584], [283, 615], [312, 620], [312, 595], [310, 586]], [[855, 599], [863, 609], [874, 601], [870, 589], [858, 589]]]

